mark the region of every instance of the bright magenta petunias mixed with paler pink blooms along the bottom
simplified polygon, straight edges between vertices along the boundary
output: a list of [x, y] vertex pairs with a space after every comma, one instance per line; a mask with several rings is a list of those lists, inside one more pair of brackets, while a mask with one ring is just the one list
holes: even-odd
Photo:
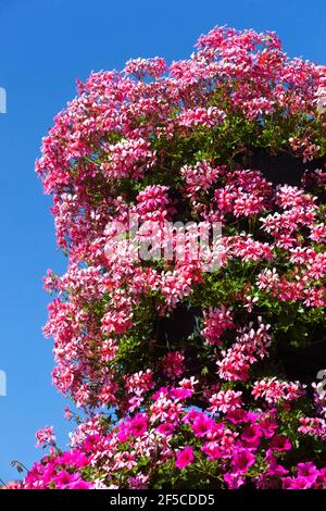
[[[217, 488], [239, 488], [249, 473], [256, 488], [325, 486], [325, 466], [317, 469], [311, 461], [289, 465], [296, 452], [289, 435], [296, 433], [281, 433], [287, 421], [281, 408], [244, 410], [241, 392], [225, 390], [212, 396], [213, 406], [204, 412], [189, 408], [191, 396], [183, 381], [161, 387], [147, 412], [120, 421], [110, 432], [103, 417], [93, 416], [75, 429], [70, 451], [52, 450], [35, 464], [23, 488], [143, 489], [161, 486], [167, 472], [176, 484], [186, 474], [200, 487], [202, 470], [206, 484]], [[86, 481], [89, 474], [91, 483]]]

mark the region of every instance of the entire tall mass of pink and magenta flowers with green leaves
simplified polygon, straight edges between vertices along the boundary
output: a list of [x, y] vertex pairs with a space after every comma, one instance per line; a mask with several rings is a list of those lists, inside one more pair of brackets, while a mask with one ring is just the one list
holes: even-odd
[[[291, 363], [325, 340], [325, 86], [274, 33], [226, 27], [78, 83], [36, 170], [68, 257], [45, 281], [53, 383], [86, 419], [66, 452], [38, 432], [24, 488], [326, 488], [322, 367]], [[122, 257], [133, 214], [155, 237]], [[220, 264], [193, 233], [164, 258], [168, 221], [222, 224]]]

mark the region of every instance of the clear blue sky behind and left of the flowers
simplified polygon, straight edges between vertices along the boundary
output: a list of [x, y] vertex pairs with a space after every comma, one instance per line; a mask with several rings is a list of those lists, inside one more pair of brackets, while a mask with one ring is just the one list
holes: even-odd
[[64, 400], [51, 386], [52, 342], [46, 340], [48, 267], [62, 272], [49, 213], [34, 173], [41, 137], [75, 94], [75, 78], [123, 67], [129, 58], [187, 58], [214, 25], [271, 29], [290, 55], [325, 63], [325, 0], [0, 0], [0, 477], [9, 463], [40, 456], [35, 431], [54, 425], [64, 445]]

